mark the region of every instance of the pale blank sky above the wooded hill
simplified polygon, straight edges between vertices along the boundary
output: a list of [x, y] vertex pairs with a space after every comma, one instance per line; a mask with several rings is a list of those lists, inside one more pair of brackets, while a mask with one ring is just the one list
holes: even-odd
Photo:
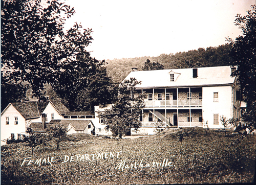
[[235, 16], [246, 15], [255, 0], [68, 0], [81, 23], [94, 31], [88, 47], [98, 60], [158, 56], [225, 44], [241, 35]]

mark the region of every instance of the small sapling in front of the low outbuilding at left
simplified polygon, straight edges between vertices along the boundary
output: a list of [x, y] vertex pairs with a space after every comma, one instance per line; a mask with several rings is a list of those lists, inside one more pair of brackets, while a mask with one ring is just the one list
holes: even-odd
[[59, 145], [62, 141], [67, 140], [68, 128], [61, 124], [54, 124], [54, 126], [50, 126], [50, 128], [47, 129], [47, 132], [50, 137], [54, 139], [57, 149], [59, 149]]

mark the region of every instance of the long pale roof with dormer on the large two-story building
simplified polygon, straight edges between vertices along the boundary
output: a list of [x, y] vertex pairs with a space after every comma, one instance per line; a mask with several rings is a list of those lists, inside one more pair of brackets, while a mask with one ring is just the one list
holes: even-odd
[[[175, 82], [170, 82], [170, 72], [179, 73], [179, 78]], [[218, 86], [230, 85], [235, 77], [230, 77], [230, 66], [218, 67], [199, 67], [198, 77], [193, 78], [192, 68], [172, 69], [172, 70], [153, 70], [153, 71], [134, 71], [124, 80], [136, 78], [141, 84], [136, 88], [152, 87], [182, 87], [182, 86]]]

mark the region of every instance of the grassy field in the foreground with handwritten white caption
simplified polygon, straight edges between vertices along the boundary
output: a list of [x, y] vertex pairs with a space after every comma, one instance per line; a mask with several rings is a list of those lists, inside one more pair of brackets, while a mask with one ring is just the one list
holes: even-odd
[[253, 182], [254, 135], [241, 144], [231, 144], [238, 135], [182, 130], [160, 138], [124, 139], [118, 145], [111, 139], [77, 136], [63, 143], [60, 150], [54, 144], [39, 146], [34, 156], [22, 143], [3, 146], [1, 184]]

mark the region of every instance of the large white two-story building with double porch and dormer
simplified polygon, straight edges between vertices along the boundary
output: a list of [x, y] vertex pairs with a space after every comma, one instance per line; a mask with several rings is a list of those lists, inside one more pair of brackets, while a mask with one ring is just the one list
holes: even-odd
[[[141, 128], [134, 134], [154, 134], [155, 122], [164, 127], [224, 128], [220, 122], [241, 117], [241, 94], [230, 66], [133, 71], [124, 79], [136, 78], [136, 93], [146, 94], [141, 112]], [[111, 106], [95, 107], [97, 112]], [[100, 123], [101, 127], [106, 125]], [[207, 123], [207, 125], [206, 125]], [[100, 127], [99, 127], [100, 128]]]

